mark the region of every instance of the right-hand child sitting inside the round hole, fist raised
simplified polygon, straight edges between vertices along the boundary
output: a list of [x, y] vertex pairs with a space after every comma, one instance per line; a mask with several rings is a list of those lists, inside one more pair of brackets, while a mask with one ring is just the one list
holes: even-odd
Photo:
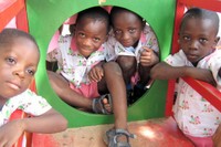
[[[127, 86], [128, 103], [131, 104], [145, 93], [150, 80], [149, 71], [159, 61], [157, 39], [143, 18], [127, 9], [113, 7], [110, 20], [114, 34], [108, 39], [107, 61], [114, 60], [119, 64]], [[134, 96], [130, 93], [133, 77], [136, 77]]]

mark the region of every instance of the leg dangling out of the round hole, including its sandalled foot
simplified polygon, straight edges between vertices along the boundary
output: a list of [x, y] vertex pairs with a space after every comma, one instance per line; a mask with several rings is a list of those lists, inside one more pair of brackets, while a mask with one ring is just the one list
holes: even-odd
[[127, 98], [126, 87], [122, 70], [116, 62], [104, 64], [104, 75], [107, 88], [113, 99], [114, 128], [106, 133], [108, 147], [115, 147], [119, 144], [129, 147], [129, 137], [134, 135], [127, 132]]

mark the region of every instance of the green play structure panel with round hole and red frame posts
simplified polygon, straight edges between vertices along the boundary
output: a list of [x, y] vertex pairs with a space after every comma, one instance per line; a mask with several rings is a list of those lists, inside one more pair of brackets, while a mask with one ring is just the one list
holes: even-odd
[[[124, 7], [146, 19], [157, 35], [160, 60], [179, 49], [178, 29], [186, 7], [221, 12], [219, 0], [0, 0], [0, 30], [15, 17], [17, 28], [30, 32], [41, 49], [39, 69], [31, 88], [69, 119], [70, 128], [113, 123], [113, 115], [84, 113], [61, 101], [50, 86], [45, 70], [46, 50], [54, 32], [71, 15], [95, 6]], [[219, 91], [201, 81], [183, 80], [221, 111]], [[149, 91], [128, 107], [128, 120], [171, 116], [173, 90], [175, 81], [155, 81]]]

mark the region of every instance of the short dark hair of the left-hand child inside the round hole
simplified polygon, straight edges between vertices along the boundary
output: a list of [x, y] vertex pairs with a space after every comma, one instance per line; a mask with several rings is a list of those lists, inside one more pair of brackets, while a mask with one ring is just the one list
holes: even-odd
[[103, 21], [106, 23], [107, 31], [109, 30], [109, 14], [102, 7], [93, 7], [93, 8], [88, 8], [86, 10], [78, 12], [77, 18], [76, 18], [76, 24], [77, 22], [80, 22], [81, 20], [85, 18], [90, 18], [94, 21]]

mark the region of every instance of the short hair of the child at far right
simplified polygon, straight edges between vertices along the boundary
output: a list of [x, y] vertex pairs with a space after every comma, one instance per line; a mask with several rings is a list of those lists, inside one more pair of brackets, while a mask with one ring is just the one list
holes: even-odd
[[217, 29], [217, 33], [219, 32], [219, 15], [217, 12], [214, 11], [210, 11], [210, 10], [206, 10], [206, 9], [200, 9], [200, 8], [191, 8], [189, 9], [181, 21], [180, 24], [180, 30], [182, 29], [182, 27], [185, 25], [186, 21], [191, 19], [191, 18], [199, 18], [199, 19], [209, 19], [213, 22], [215, 29]]

